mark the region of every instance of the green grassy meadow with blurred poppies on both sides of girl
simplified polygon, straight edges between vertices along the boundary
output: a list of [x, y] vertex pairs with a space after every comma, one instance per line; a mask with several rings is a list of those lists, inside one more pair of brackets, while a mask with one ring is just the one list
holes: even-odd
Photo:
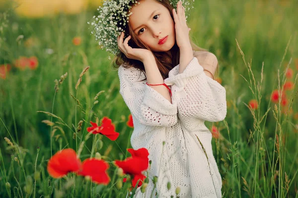
[[[218, 57], [226, 89], [225, 120], [206, 122], [214, 131], [223, 197], [298, 198], [298, 2], [194, 3], [191, 36]], [[0, 197], [126, 197], [130, 184], [122, 183], [112, 162], [130, 156], [133, 128], [127, 125], [130, 111], [119, 93], [113, 55], [88, 29], [94, 14], [27, 19], [2, 8]], [[26, 68], [23, 61], [29, 61]], [[66, 73], [55, 91], [55, 79]], [[283, 97], [275, 90], [283, 90]], [[90, 121], [104, 116], [115, 124], [118, 139], [86, 138]], [[82, 161], [100, 153], [109, 164], [110, 183], [97, 185], [73, 173], [49, 176], [48, 160], [63, 148], [80, 152]]]

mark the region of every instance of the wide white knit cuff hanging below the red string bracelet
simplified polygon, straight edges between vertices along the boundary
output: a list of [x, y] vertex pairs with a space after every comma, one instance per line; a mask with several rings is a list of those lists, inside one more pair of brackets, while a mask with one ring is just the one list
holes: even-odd
[[148, 85], [145, 86], [145, 95], [143, 99], [143, 103], [145, 105], [163, 115], [177, 114], [177, 102], [175, 100], [172, 99], [171, 103], [153, 88], [149, 87]]

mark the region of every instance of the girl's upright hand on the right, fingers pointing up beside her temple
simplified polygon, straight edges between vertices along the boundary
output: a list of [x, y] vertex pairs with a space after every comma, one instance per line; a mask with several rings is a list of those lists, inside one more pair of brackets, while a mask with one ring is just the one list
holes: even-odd
[[185, 10], [181, 1], [177, 3], [177, 13], [176, 10], [173, 9], [173, 16], [175, 21], [175, 32], [176, 32], [176, 42], [177, 46], [181, 49], [183, 47], [190, 46], [189, 41], [189, 31], [190, 28], [187, 27], [186, 18], [185, 18]]

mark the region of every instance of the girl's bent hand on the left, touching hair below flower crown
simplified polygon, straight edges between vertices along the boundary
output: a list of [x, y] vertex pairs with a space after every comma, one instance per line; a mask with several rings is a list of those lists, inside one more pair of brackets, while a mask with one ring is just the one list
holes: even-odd
[[138, 49], [138, 48], [132, 48], [128, 45], [128, 41], [130, 40], [131, 36], [128, 36], [124, 42], [123, 42], [124, 33], [121, 32], [121, 35], [117, 37], [118, 42], [118, 48], [120, 51], [122, 51], [126, 57], [130, 59], [136, 59], [144, 62], [145, 58], [149, 57], [150, 55], [153, 55], [151, 51], [148, 49]]

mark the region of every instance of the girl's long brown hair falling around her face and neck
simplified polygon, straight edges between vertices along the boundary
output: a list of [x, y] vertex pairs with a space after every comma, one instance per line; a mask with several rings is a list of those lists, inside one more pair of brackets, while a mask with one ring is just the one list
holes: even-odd
[[[174, 16], [173, 16], [173, 13], [172, 13], [172, 10], [173, 10], [173, 6], [170, 4], [169, 0], [155, 0], [156, 2], [162, 4], [163, 6], [165, 6], [168, 10], [169, 10], [169, 13], [174, 21]], [[134, 3], [131, 2], [129, 5], [132, 6]], [[124, 36], [124, 39], [127, 38], [129, 35], [131, 35], [131, 39], [129, 40], [128, 44], [130, 47], [132, 48], [139, 48], [139, 49], [149, 49], [149, 47], [143, 43], [139, 38], [138, 36], [133, 32], [132, 28], [130, 27], [129, 23], [126, 23], [127, 25], [124, 27], [123, 25], [117, 25], [118, 28], [121, 27], [122, 29], [125, 30], [125, 36]], [[127, 34], [129, 33], [129, 34]], [[195, 51], [208, 51], [207, 49], [203, 49], [203, 48], [200, 48], [198, 46], [196, 46], [194, 44], [194, 42], [192, 41], [191, 37], [190, 37], [190, 44], [191, 44], [191, 47], [193, 50]], [[150, 50], [151, 51], [151, 50]], [[180, 49], [179, 47], [177, 46], [177, 43], [175, 42], [174, 46], [170, 49], [170, 52], [171, 52], [171, 55], [172, 55], [172, 58], [170, 58], [170, 56], [164, 52], [164, 51], [151, 51], [154, 58], [155, 58], [155, 61], [156, 61], [156, 64], [157, 64], [157, 67], [160, 71], [160, 74], [162, 76], [163, 79], [166, 79], [168, 78], [168, 73], [169, 71], [174, 68], [176, 65], [179, 64], [179, 59], [180, 59]], [[194, 56], [195, 56], [196, 53], [194, 53]], [[114, 63], [116, 63], [117, 66], [114, 65]], [[126, 63], [126, 64], [123, 64], [123, 63]], [[113, 61], [112, 61], [112, 64], [115, 68], [119, 68], [121, 64], [123, 64], [123, 67], [125, 68], [129, 68], [129, 67], [134, 67], [134, 68], [138, 68], [140, 69], [140, 75], [141, 75], [141, 72], [143, 72], [146, 76], [146, 73], [145, 73], [145, 67], [144, 67], [144, 64], [142, 61], [139, 61], [139, 60], [136, 60], [136, 59], [130, 59], [130, 58], [127, 58], [126, 55], [120, 51], [118, 54], [116, 54], [113, 58]], [[145, 81], [147, 80], [147, 78], [143, 79], [142, 81]]]

